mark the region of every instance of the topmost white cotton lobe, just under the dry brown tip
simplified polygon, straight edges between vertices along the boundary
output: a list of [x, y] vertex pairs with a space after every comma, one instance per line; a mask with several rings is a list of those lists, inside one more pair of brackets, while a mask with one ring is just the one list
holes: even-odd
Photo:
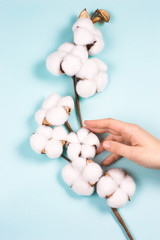
[[95, 31], [94, 24], [89, 18], [79, 18], [72, 27], [73, 32], [77, 30], [77, 28], [86, 28], [91, 32]]

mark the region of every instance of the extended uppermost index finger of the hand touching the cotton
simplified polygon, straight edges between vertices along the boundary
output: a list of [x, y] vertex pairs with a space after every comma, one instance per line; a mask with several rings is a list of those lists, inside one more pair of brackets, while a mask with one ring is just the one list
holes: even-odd
[[106, 128], [106, 129], [111, 129], [112, 131], [115, 131], [117, 133], [121, 133], [121, 131], [129, 125], [128, 123], [111, 119], [111, 118], [100, 119], [100, 120], [86, 120], [84, 121], [84, 124], [88, 128], [98, 128], [98, 129]]

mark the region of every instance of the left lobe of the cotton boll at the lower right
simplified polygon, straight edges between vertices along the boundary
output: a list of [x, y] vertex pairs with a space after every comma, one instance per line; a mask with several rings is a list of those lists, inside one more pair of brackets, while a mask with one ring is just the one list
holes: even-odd
[[103, 176], [97, 183], [97, 194], [105, 198], [113, 194], [117, 189], [116, 182], [109, 176]]

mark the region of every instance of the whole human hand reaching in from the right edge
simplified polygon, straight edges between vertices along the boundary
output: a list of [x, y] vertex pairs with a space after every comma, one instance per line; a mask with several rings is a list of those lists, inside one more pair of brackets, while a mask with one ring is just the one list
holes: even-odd
[[94, 133], [109, 133], [97, 149], [97, 154], [111, 152], [104, 166], [126, 157], [143, 167], [160, 169], [160, 140], [143, 128], [110, 118], [86, 120], [84, 124]]

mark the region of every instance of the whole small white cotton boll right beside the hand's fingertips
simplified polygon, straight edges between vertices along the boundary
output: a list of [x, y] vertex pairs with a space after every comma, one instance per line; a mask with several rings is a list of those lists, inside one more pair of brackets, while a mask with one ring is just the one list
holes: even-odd
[[67, 155], [72, 161], [78, 157], [93, 159], [99, 143], [94, 133], [90, 134], [87, 128], [81, 128], [77, 133], [68, 134]]

